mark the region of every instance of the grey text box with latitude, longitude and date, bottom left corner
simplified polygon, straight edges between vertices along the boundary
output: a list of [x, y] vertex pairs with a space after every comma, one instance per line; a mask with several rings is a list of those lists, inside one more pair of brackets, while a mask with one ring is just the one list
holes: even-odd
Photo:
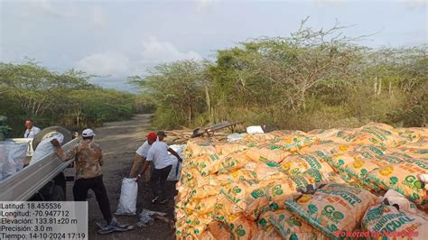
[[88, 239], [88, 202], [0, 201], [0, 239]]

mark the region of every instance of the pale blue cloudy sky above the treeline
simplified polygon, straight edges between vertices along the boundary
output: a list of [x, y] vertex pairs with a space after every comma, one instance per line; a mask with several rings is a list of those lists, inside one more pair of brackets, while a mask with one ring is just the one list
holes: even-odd
[[428, 0], [136, 1], [0, 0], [0, 61], [30, 58], [62, 72], [98, 75], [104, 88], [135, 91], [127, 76], [144, 76], [174, 60], [215, 60], [216, 51], [260, 36], [289, 36], [302, 19], [368, 47], [428, 42]]

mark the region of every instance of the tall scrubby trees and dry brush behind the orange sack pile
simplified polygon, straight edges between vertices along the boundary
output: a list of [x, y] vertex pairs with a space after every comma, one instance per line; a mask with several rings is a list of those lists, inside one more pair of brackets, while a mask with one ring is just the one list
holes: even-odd
[[245, 120], [281, 129], [421, 126], [428, 114], [427, 45], [370, 49], [341, 28], [302, 27], [217, 51], [216, 60], [156, 66], [129, 82], [156, 106], [160, 128]]

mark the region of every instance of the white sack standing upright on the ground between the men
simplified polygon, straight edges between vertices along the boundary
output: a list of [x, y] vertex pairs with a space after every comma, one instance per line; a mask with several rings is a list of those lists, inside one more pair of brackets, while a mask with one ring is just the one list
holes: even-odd
[[122, 180], [120, 199], [117, 205], [116, 215], [134, 216], [136, 214], [136, 198], [138, 195], [138, 184], [135, 179]]

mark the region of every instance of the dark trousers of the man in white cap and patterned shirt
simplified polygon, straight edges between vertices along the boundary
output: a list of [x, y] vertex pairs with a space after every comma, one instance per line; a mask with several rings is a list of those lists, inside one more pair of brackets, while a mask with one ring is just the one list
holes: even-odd
[[104, 187], [103, 176], [91, 179], [79, 179], [74, 181], [73, 195], [75, 201], [86, 201], [88, 198], [88, 189], [92, 189], [98, 201], [99, 209], [103, 214], [107, 224], [112, 219], [110, 211], [110, 201], [108, 200], [107, 191]]

